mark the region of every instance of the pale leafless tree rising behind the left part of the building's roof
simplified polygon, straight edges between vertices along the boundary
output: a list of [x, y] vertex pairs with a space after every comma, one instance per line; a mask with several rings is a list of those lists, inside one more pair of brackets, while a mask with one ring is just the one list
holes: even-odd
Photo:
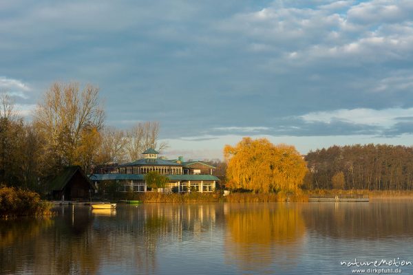
[[144, 122], [127, 131], [129, 160], [139, 159], [148, 148], [154, 148], [156, 151], [168, 148], [167, 142], [159, 142], [159, 130], [159, 122]]

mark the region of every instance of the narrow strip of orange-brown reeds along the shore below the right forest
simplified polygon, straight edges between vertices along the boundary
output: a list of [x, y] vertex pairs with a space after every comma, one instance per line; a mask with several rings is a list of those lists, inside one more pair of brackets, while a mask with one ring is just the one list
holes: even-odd
[[343, 194], [343, 195], [362, 194], [362, 195], [368, 195], [370, 198], [413, 197], [413, 190], [316, 189], [316, 190], [308, 191], [308, 195], [334, 195], [334, 194]]

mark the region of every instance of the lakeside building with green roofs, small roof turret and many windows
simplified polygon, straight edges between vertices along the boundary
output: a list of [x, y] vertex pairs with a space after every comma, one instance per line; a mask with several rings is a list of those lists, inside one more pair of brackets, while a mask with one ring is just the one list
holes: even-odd
[[116, 181], [121, 192], [147, 192], [145, 174], [156, 171], [169, 179], [163, 191], [172, 192], [213, 192], [215, 184], [219, 181], [213, 170], [215, 167], [204, 162], [184, 162], [183, 157], [178, 159], [164, 159], [158, 157], [159, 153], [149, 148], [142, 153], [143, 158], [129, 162], [100, 168], [90, 175], [96, 186], [102, 181]]

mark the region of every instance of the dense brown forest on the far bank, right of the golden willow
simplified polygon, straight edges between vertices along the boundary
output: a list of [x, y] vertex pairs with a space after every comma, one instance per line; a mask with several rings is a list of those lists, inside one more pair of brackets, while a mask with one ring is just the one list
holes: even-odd
[[303, 188], [413, 190], [413, 147], [332, 146], [306, 155]]

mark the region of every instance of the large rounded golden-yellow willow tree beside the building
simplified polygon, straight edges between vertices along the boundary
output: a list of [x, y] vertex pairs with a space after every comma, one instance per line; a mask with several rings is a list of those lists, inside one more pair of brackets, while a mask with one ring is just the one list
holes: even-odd
[[227, 186], [254, 192], [296, 191], [306, 175], [306, 162], [294, 146], [244, 137], [224, 147]]

